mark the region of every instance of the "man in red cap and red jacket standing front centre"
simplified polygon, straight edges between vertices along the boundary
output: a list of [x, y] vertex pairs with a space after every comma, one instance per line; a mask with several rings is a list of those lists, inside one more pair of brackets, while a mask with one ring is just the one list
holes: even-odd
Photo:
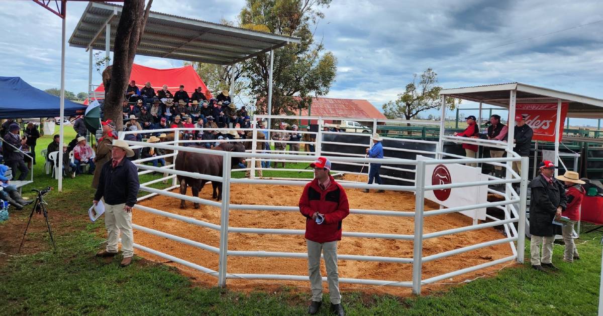
[[331, 162], [319, 157], [310, 164], [314, 180], [303, 190], [300, 212], [306, 217], [306, 244], [308, 245], [308, 274], [312, 290], [309, 314], [316, 314], [323, 300], [323, 278], [320, 275], [320, 253], [327, 268], [331, 311], [345, 315], [339, 294], [337, 272], [337, 241], [341, 240], [341, 221], [350, 214], [346, 190], [329, 175]]

